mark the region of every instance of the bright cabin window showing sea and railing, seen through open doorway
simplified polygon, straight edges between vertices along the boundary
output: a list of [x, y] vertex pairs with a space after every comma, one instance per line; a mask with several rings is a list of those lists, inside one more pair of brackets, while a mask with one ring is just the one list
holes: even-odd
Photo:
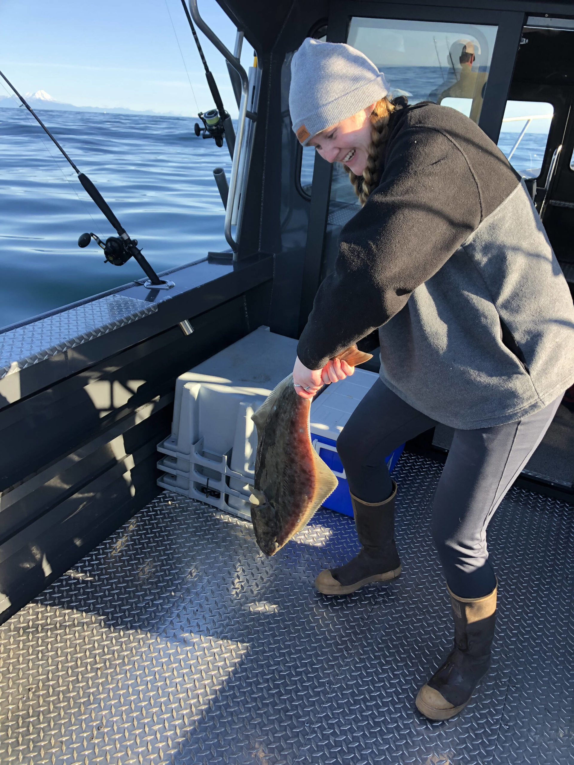
[[553, 113], [544, 101], [507, 101], [498, 146], [525, 178], [540, 175]]

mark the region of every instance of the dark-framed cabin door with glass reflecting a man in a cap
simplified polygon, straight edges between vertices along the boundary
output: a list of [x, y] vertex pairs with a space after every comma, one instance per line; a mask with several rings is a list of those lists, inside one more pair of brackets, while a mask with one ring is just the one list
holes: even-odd
[[[522, 13], [478, 8], [335, 2], [327, 39], [347, 42], [373, 60], [392, 95], [459, 109], [496, 141], [523, 21]], [[302, 327], [321, 279], [333, 268], [341, 228], [359, 210], [342, 165], [318, 156], [311, 194]]]

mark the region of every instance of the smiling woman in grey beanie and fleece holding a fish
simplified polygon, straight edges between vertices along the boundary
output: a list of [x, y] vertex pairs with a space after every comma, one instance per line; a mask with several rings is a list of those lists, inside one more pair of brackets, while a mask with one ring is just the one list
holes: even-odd
[[378, 329], [380, 379], [337, 442], [362, 546], [321, 571], [324, 594], [400, 574], [385, 457], [437, 423], [455, 428], [431, 520], [455, 643], [416, 698], [443, 720], [488, 671], [497, 578], [486, 529], [574, 382], [574, 307], [526, 187], [491, 139], [454, 109], [387, 93], [346, 44], [308, 38], [292, 58], [292, 129], [344, 165], [362, 205], [315, 296], [293, 379], [305, 398], [344, 379], [354, 370], [334, 356]]

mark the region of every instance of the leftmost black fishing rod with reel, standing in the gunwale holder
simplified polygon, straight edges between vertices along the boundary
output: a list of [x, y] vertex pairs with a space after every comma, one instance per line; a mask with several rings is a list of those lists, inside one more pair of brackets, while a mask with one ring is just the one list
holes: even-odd
[[30, 112], [31, 116], [33, 116], [36, 122], [38, 122], [41, 129], [44, 130], [48, 137], [51, 138], [51, 140], [57, 146], [61, 154], [64, 155], [66, 160], [77, 173], [78, 181], [80, 181], [80, 184], [82, 184], [86, 192], [90, 195], [91, 199], [96, 203], [99, 209], [106, 216], [107, 220], [109, 220], [109, 223], [112, 224], [118, 233], [118, 236], [109, 236], [105, 243], [99, 239], [99, 236], [96, 236], [96, 234], [85, 233], [82, 234], [78, 239], [78, 246], [87, 247], [90, 244], [90, 241], [93, 239], [94, 242], [96, 242], [103, 249], [103, 254], [106, 257], [106, 261], [112, 263], [113, 265], [124, 265], [124, 263], [128, 262], [129, 259], [133, 257], [139, 263], [139, 265], [142, 266], [145, 275], [149, 279], [149, 282], [146, 282], [145, 286], [153, 285], [154, 287], [158, 288], [166, 288], [171, 286], [172, 282], [161, 281], [161, 279], [155, 273], [154, 269], [152, 269], [152, 266], [149, 265], [148, 261], [142, 255], [142, 250], [138, 248], [138, 240], [129, 238], [129, 235], [126, 233], [126, 229], [124, 229], [122, 224], [119, 223], [119, 220], [113, 214], [109, 204], [96, 189], [92, 181], [90, 181], [90, 178], [80, 172], [80, 170], [76, 167], [64, 149], [57, 142], [56, 138], [54, 138], [54, 135], [51, 134], [46, 125], [44, 125], [44, 122], [42, 122], [40, 117], [38, 117], [36, 112], [34, 112], [34, 109], [31, 108], [31, 106], [24, 100], [20, 93], [18, 93], [18, 90], [15, 89], [15, 86], [13, 86], [10, 80], [8, 80], [8, 77], [6, 77], [2, 72], [0, 72], [0, 77], [2, 77], [2, 80], [4, 80], [5, 83], [10, 86], [11, 90], [13, 90], [16, 96], [18, 96], [18, 98], [21, 100], [22, 105], [28, 109], [28, 112]]

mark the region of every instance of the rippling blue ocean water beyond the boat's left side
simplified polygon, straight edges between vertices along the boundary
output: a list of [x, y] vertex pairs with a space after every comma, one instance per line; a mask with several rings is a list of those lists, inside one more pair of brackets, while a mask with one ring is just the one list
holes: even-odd
[[[41, 111], [156, 271], [227, 249], [212, 171], [230, 177], [227, 148], [184, 117]], [[104, 261], [81, 233], [116, 232], [25, 109], [0, 110], [0, 327], [144, 276]]]

